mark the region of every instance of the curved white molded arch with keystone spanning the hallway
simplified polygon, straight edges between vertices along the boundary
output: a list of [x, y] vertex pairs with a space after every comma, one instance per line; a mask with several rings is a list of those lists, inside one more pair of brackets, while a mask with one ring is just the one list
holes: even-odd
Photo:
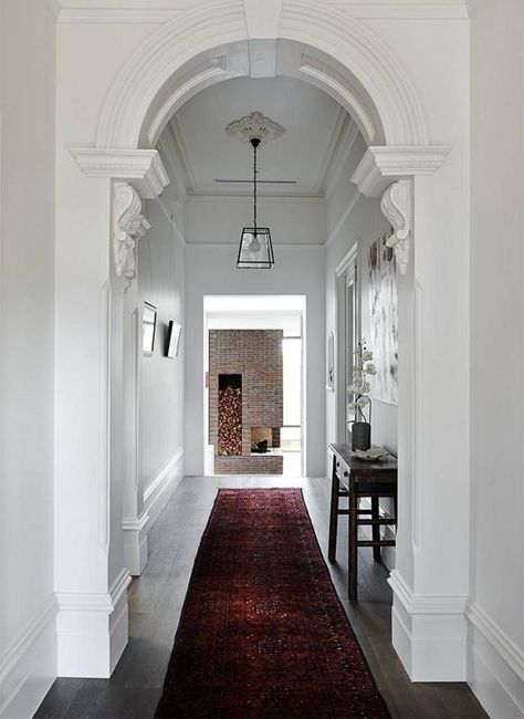
[[[96, 147], [147, 146], [147, 137], [149, 142], [158, 137], [158, 116], [166, 116], [166, 107], [172, 114], [211, 82], [249, 74], [238, 66], [228, 70], [227, 63], [220, 62], [224, 54], [220, 50], [208, 66], [197, 63], [190, 70], [189, 63], [232, 43], [261, 40], [292, 41], [321, 53], [322, 60], [308, 63], [305, 59], [302, 63], [303, 79], [335, 94], [370, 144], [428, 145], [426, 121], [408, 75], [364, 23], [316, 1], [269, 1], [261, 10], [248, 0], [224, 0], [176, 18], [133, 53], [105, 100]], [[177, 74], [178, 83], [170, 86]], [[147, 117], [149, 127], [155, 128], [153, 135], [144, 127]]]

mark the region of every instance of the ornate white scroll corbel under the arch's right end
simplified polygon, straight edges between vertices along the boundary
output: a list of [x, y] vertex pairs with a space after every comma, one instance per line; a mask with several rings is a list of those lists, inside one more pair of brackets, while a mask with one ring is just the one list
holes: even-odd
[[411, 186], [409, 180], [398, 180], [390, 185], [382, 195], [380, 209], [394, 228], [394, 233], [387, 244], [394, 248], [400, 274], [406, 274], [411, 233]]

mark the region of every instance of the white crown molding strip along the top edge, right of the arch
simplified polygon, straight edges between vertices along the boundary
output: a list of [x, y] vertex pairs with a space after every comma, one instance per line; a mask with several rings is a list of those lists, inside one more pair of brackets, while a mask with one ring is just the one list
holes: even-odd
[[368, 2], [346, 0], [329, 2], [331, 8], [347, 10], [357, 20], [468, 20], [469, 6], [465, 0], [437, 0], [420, 3], [420, 0], [400, 2]]

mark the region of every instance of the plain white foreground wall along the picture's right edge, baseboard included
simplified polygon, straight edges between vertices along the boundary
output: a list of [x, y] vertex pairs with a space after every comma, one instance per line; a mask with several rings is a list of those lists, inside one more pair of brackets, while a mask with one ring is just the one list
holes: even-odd
[[472, 3], [469, 681], [524, 717], [524, 4]]

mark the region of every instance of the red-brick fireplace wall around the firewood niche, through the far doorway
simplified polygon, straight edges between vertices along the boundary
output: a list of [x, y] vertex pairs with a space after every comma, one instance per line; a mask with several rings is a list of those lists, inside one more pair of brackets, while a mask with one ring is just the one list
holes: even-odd
[[[209, 332], [209, 444], [220, 473], [281, 475], [281, 456], [251, 456], [251, 428], [272, 427], [279, 444], [284, 393], [282, 330], [211, 330]], [[242, 455], [220, 457], [218, 450], [219, 375], [242, 375]]]

